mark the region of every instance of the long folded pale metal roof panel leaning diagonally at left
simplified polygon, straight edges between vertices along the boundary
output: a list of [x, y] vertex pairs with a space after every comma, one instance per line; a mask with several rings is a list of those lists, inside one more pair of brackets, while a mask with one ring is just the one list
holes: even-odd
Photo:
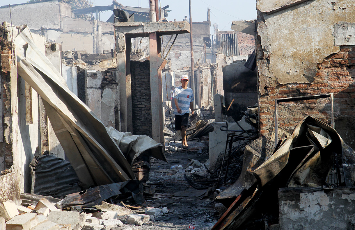
[[18, 73], [42, 97], [83, 187], [134, 179], [130, 164], [98, 117], [66, 86], [25, 28], [15, 39]]

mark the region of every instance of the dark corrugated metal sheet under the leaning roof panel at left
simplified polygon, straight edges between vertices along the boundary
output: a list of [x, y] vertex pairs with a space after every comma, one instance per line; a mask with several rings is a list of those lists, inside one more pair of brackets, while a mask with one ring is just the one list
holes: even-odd
[[69, 161], [53, 155], [37, 156], [32, 168], [31, 192], [62, 199], [65, 195], [79, 192], [80, 181]]

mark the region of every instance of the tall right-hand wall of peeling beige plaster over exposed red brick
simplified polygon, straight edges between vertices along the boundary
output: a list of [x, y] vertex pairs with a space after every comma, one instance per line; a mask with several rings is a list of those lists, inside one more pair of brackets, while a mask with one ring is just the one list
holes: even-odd
[[[291, 1], [286, 6], [282, 2], [285, 1], [272, 6], [266, 0], [257, 3], [261, 133], [266, 134], [272, 123], [275, 98], [334, 93], [335, 128], [345, 142], [355, 147], [351, 125], [355, 115], [352, 111], [355, 41], [351, 34], [340, 29], [352, 31], [355, 16], [352, 2]], [[339, 26], [342, 23], [344, 27]], [[300, 113], [312, 114], [321, 109], [314, 103], [311, 109], [301, 109]]]

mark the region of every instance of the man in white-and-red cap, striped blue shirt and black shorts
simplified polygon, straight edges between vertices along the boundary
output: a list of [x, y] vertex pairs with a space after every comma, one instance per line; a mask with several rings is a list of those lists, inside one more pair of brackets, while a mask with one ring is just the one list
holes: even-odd
[[192, 89], [187, 87], [189, 83], [189, 76], [181, 76], [181, 86], [174, 89], [174, 101], [175, 101], [175, 129], [181, 130], [182, 138], [182, 148], [187, 149], [186, 141], [186, 127], [187, 122], [189, 121], [190, 109], [191, 114], [194, 114], [192, 101], [193, 101], [193, 92]]

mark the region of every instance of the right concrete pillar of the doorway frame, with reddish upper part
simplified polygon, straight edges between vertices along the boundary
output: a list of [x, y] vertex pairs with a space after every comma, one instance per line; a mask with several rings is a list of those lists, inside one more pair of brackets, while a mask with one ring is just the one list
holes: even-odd
[[162, 68], [165, 66], [166, 60], [160, 58], [160, 47], [160, 38], [157, 34], [149, 34], [152, 136], [154, 141], [164, 144]]

